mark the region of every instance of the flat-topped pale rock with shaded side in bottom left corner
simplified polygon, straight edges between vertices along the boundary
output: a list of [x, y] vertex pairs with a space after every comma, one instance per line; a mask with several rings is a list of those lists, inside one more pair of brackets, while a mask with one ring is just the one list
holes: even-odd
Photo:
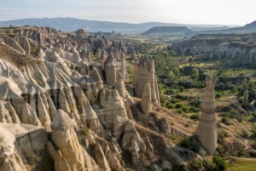
[[[17, 142], [20, 137], [22, 141]], [[44, 150], [47, 136], [40, 127], [20, 123], [0, 123], [0, 140], [0, 170], [26, 171], [23, 155], [37, 160], [35, 151]], [[23, 153], [20, 154], [18, 151]]]

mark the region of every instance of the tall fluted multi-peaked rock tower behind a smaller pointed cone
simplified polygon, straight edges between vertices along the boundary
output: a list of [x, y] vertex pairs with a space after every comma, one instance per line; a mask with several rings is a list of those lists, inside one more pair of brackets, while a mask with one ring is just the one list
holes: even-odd
[[154, 60], [149, 60], [147, 54], [144, 54], [139, 60], [137, 67], [134, 66], [134, 72], [137, 74], [133, 77], [132, 84], [135, 86], [135, 94], [141, 98], [143, 95], [143, 88], [146, 83], [150, 83], [151, 99], [156, 103], [160, 103], [158, 92], [157, 77], [154, 71]]

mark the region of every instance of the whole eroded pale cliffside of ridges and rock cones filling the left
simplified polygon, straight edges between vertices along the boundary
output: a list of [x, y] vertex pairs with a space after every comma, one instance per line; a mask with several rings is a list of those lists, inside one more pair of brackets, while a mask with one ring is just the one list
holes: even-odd
[[160, 107], [146, 54], [129, 85], [137, 98], [125, 88], [123, 43], [39, 27], [0, 40], [1, 170], [170, 170], [197, 157], [169, 138], [195, 125]]

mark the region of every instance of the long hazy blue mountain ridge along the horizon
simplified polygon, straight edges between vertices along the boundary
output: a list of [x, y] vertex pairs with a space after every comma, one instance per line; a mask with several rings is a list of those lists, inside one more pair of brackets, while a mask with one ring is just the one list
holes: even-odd
[[0, 21], [0, 27], [3, 26], [49, 26], [61, 31], [75, 31], [78, 29], [84, 29], [84, 31], [103, 31], [103, 32], [122, 32], [122, 33], [142, 33], [148, 31], [154, 26], [187, 26], [189, 28], [197, 27], [201, 28], [214, 28], [221, 27], [220, 25], [183, 25], [174, 23], [159, 23], [159, 22], [147, 22], [140, 24], [122, 23], [122, 22], [108, 22], [108, 21], [96, 21], [96, 20], [81, 20], [76, 18], [30, 18], [20, 20], [7, 20]]

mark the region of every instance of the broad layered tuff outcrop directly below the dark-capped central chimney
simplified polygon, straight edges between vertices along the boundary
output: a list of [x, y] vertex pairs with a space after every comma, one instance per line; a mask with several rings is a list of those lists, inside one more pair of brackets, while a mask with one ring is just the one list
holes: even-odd
[[123, 133], [122, 126], [128, 121], [125, 105], [117, 89], [105, 90], [99, 94], [100, 106], [96, 114], [104, 128], [108, 128], [116, 139]]

